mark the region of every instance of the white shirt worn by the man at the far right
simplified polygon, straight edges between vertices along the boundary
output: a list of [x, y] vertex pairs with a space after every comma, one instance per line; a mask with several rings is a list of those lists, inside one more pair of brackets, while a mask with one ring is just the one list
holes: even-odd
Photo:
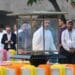
[[70, 48], [75, 48], [75, 29], [69, 32], [67, 29], [62, 33], [62, 45], [65, 50], [70, 51]]

